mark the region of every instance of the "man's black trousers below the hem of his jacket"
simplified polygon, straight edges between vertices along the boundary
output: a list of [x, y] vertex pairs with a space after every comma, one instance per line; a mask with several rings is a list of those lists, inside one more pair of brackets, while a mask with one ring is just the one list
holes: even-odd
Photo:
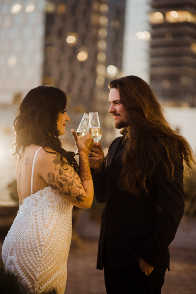
[[140, 269], [138, 262], [112, 268], [104, 260], [104, 277], [107, 294], [160, 294], [166, 268], [154, 268], [149, 276]]

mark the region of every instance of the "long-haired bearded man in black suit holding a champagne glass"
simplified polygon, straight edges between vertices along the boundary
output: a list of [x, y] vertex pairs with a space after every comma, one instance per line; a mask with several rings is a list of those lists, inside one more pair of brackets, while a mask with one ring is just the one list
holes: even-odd
[[123, 136], [105, 163], [100, 143], [89, 154], [95, 197], [106, 202], [97, 268], [104, 268], [107, 293], [159, 294], [184, 211], [183, 160], [190, 166], [192, 149], [141, 78], [119, 78], [109, 88], [109, 112]]

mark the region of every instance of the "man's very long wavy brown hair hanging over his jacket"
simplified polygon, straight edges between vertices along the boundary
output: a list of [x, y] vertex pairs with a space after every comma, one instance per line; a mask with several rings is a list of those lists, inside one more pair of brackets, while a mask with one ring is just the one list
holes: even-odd
[[160, 103], [143, 79], [126, 76], [111, 81], [109, 88], [118, 89], [130, 119], [130, 127], [122, 132], [126, 139], [120, 189], [136, 195], [148, 194], [147, 183], [158, 163], [165, 166], [167, 177], [173, 178], [177, 157], [183, 157], [190, 167], [194, 160], [189, 143], [169, 126]]

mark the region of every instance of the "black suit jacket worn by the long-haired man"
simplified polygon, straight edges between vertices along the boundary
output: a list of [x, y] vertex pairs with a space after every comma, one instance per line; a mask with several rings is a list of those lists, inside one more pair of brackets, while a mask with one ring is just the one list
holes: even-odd
[[[116, 138], [108, 150], [104, 171], [92, 174], [95, 198], [106, 203], [102, 213], [97, 268], [103, 269], [104, 266], [104, 244], [113, 267], [135, 263], [141, 256], [154, 267], [161, 264], [169, 269], [168, 246], [175, 237], [184, 211], [182, 158], [176, 158], [173, 153], [173, 180], [167, 179], [160, 163], [148, 183], [149, 195], [137, 197], [118, 188], [123, 148], [122, 137]], [[172, 149], [174, 142], [170, 140]]]

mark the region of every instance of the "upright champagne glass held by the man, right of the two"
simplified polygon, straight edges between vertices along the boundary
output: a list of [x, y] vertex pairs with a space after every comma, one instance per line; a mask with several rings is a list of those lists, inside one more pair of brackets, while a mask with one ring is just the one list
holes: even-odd
[[101, 128], [99, 122], [98, 112], [89, 112], [89, 129], [91, 137], [94, 142], [98, 142], [101, 139]]

